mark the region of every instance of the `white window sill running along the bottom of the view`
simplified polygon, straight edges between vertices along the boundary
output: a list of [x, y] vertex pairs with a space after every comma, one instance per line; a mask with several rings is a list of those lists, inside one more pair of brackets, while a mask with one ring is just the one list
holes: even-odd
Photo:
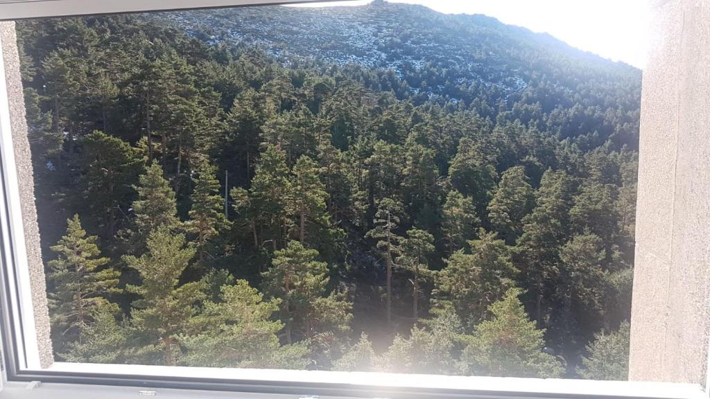
[[[293, 398], [297, 395], [349, 395], [359, 397], [391, 397], [407, 393], [408, 397], [488, 397], [488, 398], [647, 398], [707, 399], [699, 385], [679, 383], [645, 383], [628, 381], [586, 381], [540, 378], [495, 378], [476, 376], [431, 376], [393, 373], [346, 373], [336, 371], [260, 370], [240, 368], [167, 367], [123, 364], [56, 363], [50, 368], [21, 373], [27, 381], [44, 384], [27, 390], [26, 383], [11, 383], [2, 397], [7, 398], [111, 398], [135, 397], [138, 390], [155, 390], [165, 398], [229, 398], [234, 390], [252, 392], [249, 398]], [[88, 378], [81, 384], [72, 378]], [[93, 381], [93, 382], [91, 382]], [[56, 384], [53, 382], [62, 382]], [[102, 384], [107, 386], [87, 385]], [[67, 384], [69, 383], [69, 384]], [[108, 386], [111, 384], [117, 386]], [[118, 387], [122, 386], [122, 387]], [[141, 388], [136, 388], [141, 387]], [[175, 389], [182, 388], [182, 389]], [[231, 390], [230, 393], [219, 391]], [[33, 396], [36, 391], [39, 395]], [[22, 393], [24, 392], [24, 394]], [[276, 395], [274, 395], [276, 394]], [[68, 395], [68, 396], [67, 396]], [[125, 395], [125, 396], [124, 396]], [[246, 394], [245, 394], [246, 395]]]

